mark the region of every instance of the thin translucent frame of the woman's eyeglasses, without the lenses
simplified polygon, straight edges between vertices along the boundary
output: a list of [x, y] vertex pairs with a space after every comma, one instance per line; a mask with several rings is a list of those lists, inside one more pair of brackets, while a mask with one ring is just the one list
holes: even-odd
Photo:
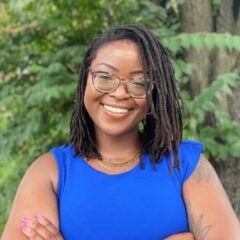
[[[128, 91], [128, 83], [132, 80], [131, 78], [119, 77], [119, 76], [117, 76], [117, 75], [114, 75], [114, 74], [108, 73], [108, 72], [104, 72], [104, 71], [94, 71], [94, 70], [92, 70], [91, 68], [89, 68], [89, 72], [90, 72], [91, 75], [92, 75], [92, 83], [93, 83], [94, 88], [95, 88], [98, 92], [101, 92], [101, 93], [111, 93], [111, 92], [114, 92], [114, 91], [119, 87], [120, 82], [126, 82], [127, 93], [128, 93], [131, 97], [133, 97], [133, 98], [138, 98], [138, 99], [145, 98], [145, 97], [148, 96], [149, 93], [153, 90], [153, 83], [150, 83], [150, 82], [149, 82], [149, 83], [150, 83], [150, 87], [149, 87], [149, 89], [147, 90], [147, 93], [146, 93], [145, 95], [143, 95], [143, 96], [135, 96], [135, 95], [133, 95], [132, 93], [130, 93], [130, 92]], [[106, 73], [106, 74], [108, 74], [108, 75], [110, 75], [110, 76], [112, 76], [112, 77], [114, 77], [114, 78], [117, 78], [117, 79], [119, 80], [117, 86], [116, 86], [114, 89], [109, 90], [109, 91], [107, 91], [107, 90], [106, 90], [106, 91], [102, 91], [102, 90], [98, 89], [98, 88], [95, 86], [95, 84], [94, 84], [95, 77], [96, 77], [96, 73]], [[149, 81], [149, 79], [146, 79], [146, 81]]]

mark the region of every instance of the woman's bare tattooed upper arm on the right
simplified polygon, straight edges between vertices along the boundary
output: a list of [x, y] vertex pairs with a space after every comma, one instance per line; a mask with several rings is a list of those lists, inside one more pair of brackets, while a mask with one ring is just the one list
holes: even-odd
[[184, 183], [183, 196], [196, 240], [240, 240], [239, 220], [215, 170], [203, 156]]

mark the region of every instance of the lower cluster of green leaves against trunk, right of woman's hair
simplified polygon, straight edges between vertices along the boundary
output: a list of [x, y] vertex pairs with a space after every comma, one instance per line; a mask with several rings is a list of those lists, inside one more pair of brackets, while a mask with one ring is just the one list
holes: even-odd
[[[205, 153], [215, 160], [240, 156], [240, 124], [217, 104], [223, 93], [232, 95], [239, 77], [237, 73], [222, 74], [192, 101], [185, 101], [184, 137], [202, 139]], [[212, 125], [206, 124], [206, 118]]]

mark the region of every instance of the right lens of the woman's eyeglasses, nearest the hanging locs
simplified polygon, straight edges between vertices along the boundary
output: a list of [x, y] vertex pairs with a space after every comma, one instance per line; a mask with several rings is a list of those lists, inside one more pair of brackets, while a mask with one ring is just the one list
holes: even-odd
[[149, 89], [149, 82], [146, 80], [130, 81], [127, 85], [128, 92], [134, 97], [145, 97]]

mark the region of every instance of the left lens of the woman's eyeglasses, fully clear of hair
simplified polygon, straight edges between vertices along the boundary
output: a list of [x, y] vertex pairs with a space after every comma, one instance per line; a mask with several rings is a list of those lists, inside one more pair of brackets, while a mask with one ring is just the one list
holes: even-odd
[[101, 92], [111, 92], [118, 86], [118, 79], [110, 74], [97, 72], [94, 73], [94, 87]]

